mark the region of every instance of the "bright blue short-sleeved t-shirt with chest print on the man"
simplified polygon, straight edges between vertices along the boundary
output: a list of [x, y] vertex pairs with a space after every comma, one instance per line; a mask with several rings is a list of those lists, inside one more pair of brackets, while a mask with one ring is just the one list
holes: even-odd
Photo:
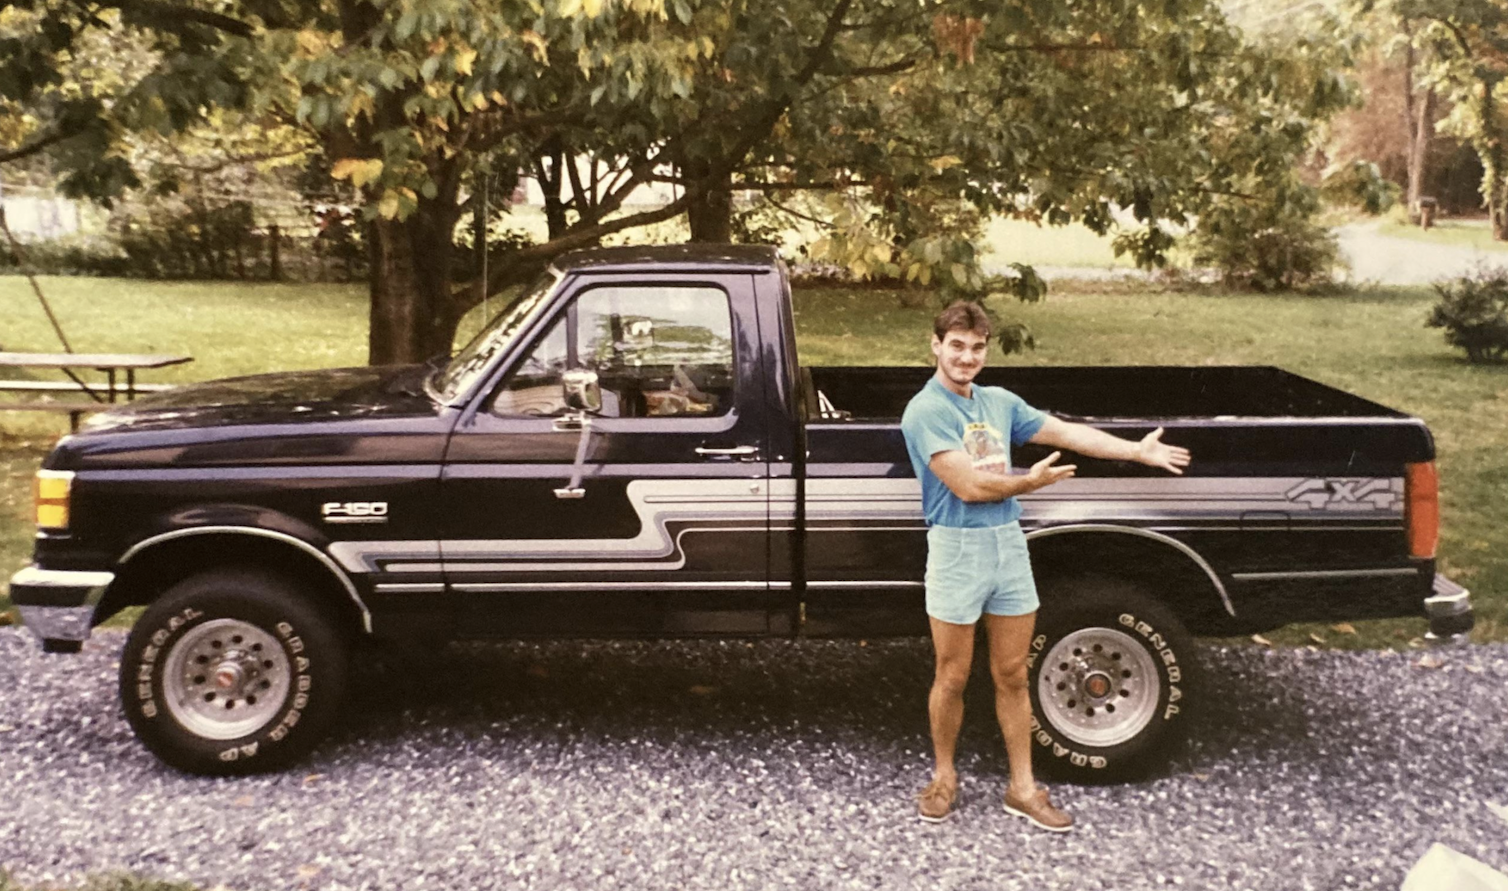
[[900, 416], [911, 467], [921, 481], [927, 526], [988, 528], [1019, 519], [1016, 499], [965, 502], [927, 464], [938, 452], [961, 451], [974, 461], [976, 470], [1010, 473], [1010, 446], [1036, 436], [1044, 424], [1045, 412], [1004, 387], [974, 384], [973, 395], [965, 400], [936, 377], [927, 380]]

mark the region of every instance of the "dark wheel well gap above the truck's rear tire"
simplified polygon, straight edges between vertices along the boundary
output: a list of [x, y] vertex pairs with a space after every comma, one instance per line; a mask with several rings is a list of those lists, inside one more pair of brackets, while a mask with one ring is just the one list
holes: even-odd
[[1197, 635], [1232, 626], [1224, 599], [1193, 556], [1158, 538], [1113, 531], [1062, 532], [1030, 540], [1031, 570], [1042, 586], [1080, 576], [1123, 579], [1173, 611]]

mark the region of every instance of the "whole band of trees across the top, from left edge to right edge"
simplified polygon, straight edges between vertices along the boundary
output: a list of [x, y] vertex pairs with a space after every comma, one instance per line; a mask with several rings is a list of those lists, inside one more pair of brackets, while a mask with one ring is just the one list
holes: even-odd
[[[1336, 12], [1262, 33], [1209, 0], [23, 0], [0, 6], [0, 173], [45, 164], [107, 205], [231, 173], [345, 196], [372, 362], [448, 351], [484, 295], [667, 220], [1022, 299], [1030, 268], [980, 267], [989, 216], [1116, 231], [1143, 265], [1197, 220], [1199, 258], [1283, 288], [1333, 256], [1321, 185], [1378, 204], [1374, 158], [1315, 160], [1366, 53], [1407, 75], [1410, 204], [1434, 128], [1472, 146], [1494, 220], [1508, 201], [1496, 0]], [[538, 240], [498, 237], [519, 172]], [[674, 197], [627, 207], [650, 184]]]

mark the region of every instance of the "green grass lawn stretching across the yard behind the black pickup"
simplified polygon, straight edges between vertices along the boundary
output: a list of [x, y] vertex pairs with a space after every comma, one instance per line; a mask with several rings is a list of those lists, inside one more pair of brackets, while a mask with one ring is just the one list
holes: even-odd
[[[359, 286], [44, 280], [78, 350], [185, 351], [192, 365], [148, 380], [199, 380], [255, 371], [360, 363], [365, 294]], [[1424, 327], [1425, 288], [1348, 297], [1149, 292], [1142, 285], [1059, 286], [1039, 305], [1001, 300], [1031, 326], [1039, 348], [997, 357], [1028, 365], [1280, 365], [1411, 412], [1434, 431], [1442, 475], [1442, 562], [1472, 588], [1476, 639], [1508, 639], [1508, 368], [1472, 366]], [[932, 305], [894, 292], [796, 292], [804, 360], [814, 365], [921, 365]], [[3, 345], [53, 350], [56, 341], [24, 279], [0, 277]], [[30, 478], [66, 430], [56, 418], [0, 413], [0, 576], [26, 564]], [[0, 609], [5, 602], [0, 600]], [[1360, 635], [1292, 627], [1268, 635], [1303, 645], [1401, 645], [1422, 620], [1357, 623]]]

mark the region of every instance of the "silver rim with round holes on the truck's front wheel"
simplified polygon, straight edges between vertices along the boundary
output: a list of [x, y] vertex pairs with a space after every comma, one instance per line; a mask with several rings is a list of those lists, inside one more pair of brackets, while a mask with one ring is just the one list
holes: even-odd
[[167, 712], [195, 736], [216, 740], [265, 727], [291, 683], [282, 645], [234, 618], [190, 629], [167, 651], [163, 671]]

